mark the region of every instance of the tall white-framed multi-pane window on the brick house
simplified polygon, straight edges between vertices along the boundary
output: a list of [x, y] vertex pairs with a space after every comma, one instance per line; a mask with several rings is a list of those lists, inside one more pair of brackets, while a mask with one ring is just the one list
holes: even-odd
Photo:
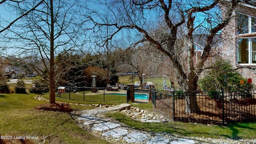
[[[237, 63], [256, 64], [256, 37], [253, 34], [256, 32], [256, 18], [237, 13], [236, 20], [236, 34], [239, 37], [236, 40]], [[252, 37], [250, 37], [250, 34], [252, 34]]]

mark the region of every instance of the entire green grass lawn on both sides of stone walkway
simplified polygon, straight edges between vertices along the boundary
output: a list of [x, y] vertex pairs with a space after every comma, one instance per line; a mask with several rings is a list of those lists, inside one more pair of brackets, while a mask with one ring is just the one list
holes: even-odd
[[[35, 94], [0, 94], [0, 134], [2, 136], [38, 136], [39, 139], [35, 140], [35, 143], [42, 141], [46, 136], [52, 144], [108, 143], [79, 128], [67, 112], [32, 110], [35, 106], [45, 103], [34, 99], [34, 96]], [[48, 98], [48, 96], [44, 97]], [[56, 100], [81, 104], [95, 103], [59, 98], [56, 98]], [[153, 110], [152, 105], [148, 103], [130, 104], [144, 110]], [[72, 105], [72, 108], [85, 110], [94, 107]], [[228, 126], [182, 122], [142, 123], [118, 112], [108, 113], [107, 115], [138, 130], [206, 138], [256, 138], [256, 123], [235, 123]]]

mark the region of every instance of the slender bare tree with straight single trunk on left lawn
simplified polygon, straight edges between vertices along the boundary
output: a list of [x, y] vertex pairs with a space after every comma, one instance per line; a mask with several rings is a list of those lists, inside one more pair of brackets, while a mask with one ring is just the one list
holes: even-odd
[[[34, 1], [36, 2], [36, 1]], [[34, 6], [35, 3], [29, 3], [26, 8]], [[13, 29], [8, 29], [5, 35], [6, 41], [15, 43], [8, 47], [2, 47], [3, 55], [11, 56], [17, 62], [31, 65], [38, 73], [47, 73], [46, 79], [50, 87], [50, 103], [55, 103], [56, 75], [62, 66], [57, 66], [55, 56], [63, 52], [79, 50], [85, 43], [85, 30], [80, 13], [86, 13], [82, 8], [86, 6], [79, 0], [45, 0], [34, 11], [21, 18], [22, 22], [14, 24]], [[10, 53], [10, 50], [13, 50]], [[35, 65], [28, 62], [29, 58], [21, 59], [25, 54], [32, 54], [32, 59], [40, 60], [43, 65]]]

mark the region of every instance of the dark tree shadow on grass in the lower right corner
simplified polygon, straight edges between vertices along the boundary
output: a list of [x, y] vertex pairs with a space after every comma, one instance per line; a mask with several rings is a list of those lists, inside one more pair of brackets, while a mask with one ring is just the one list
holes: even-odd
[[231, 137], [229, 137], [229, 138], [233, 138], [233, 139], [241, 139], [240, 136], [238, 136], [239, 130], [237, 128], [244, 128], [244, 129], [247, 129], [247, 130], [256, 130], [256, 128], [251, 128], [251, 127], [247, 126], [246, 123], [230, 124], [228, 126], [228, 128], [232, 131]]

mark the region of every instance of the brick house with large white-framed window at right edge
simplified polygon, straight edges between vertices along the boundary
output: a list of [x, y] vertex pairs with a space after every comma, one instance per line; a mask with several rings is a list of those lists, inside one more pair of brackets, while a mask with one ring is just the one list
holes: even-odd
[[234, 10], [222, 30], [221, 55], [230, 60], [234, 69], [243, 67], [237, 71], [256, 84], [256, 0], [240, 3]]

